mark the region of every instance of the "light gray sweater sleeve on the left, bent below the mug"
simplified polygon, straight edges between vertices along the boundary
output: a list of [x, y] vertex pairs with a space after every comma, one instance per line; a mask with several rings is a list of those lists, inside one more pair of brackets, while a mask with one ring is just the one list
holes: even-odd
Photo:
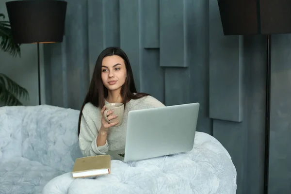
[[[94, 110], [90, 110], [91, 107], [84, 106], [82, 115], [81, 115], [81, 125], [80, 125], [80, 134], [79, 134], [79, 146], [83, 156], [96, 156], [104, 155], [108, 151], [108, 143], [104, 146], [97, 146], [97, 136], [98, 129], [92, 117], [94, 115], [98, 119], [97, 115], [94, 114]], [[97, 121], [100, 122], [100, 121]]]

